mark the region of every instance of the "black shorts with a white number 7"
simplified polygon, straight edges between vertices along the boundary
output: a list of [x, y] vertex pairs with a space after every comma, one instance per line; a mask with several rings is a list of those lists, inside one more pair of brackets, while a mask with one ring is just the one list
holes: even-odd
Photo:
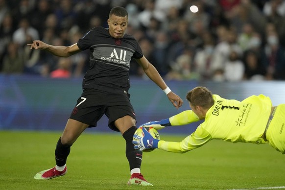
[[109, 119], [110, 129], [114, 131], [119, 131], [115, 126], [115, 120], [126, 115], [136, 119], [128, 93], [108, 93], [96, 89], [85, 89], [83, 91], [81, 97], [77, 100], [70, 119], [89, 124], [89, 127], [95, 127], [97, 121], [104, 114]]

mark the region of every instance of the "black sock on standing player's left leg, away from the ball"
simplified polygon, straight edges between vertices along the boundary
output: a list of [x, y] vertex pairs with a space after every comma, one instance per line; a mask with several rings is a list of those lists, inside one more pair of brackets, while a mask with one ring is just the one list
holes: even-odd
[[55, 148], [55, 162], [56, 166], [64, 166], [66, 164], [67, 157], [70, 153], [71, 145], [62, 144], [59, 138]]

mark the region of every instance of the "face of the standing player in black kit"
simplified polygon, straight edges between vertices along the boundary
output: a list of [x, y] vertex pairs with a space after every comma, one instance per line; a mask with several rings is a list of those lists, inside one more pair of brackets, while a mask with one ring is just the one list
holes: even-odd
[[111, 15], [108, 19], [109, 34], [114, 38], [122, 38], [128, 25], [128, 17]]

